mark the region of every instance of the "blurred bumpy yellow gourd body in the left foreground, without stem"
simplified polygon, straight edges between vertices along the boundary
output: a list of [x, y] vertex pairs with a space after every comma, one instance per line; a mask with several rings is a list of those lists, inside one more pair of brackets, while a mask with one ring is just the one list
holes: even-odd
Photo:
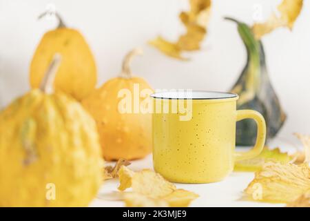
[[1, 111], [0, 206], [87, 206], [102, 166], [96, 124], [74, 99], [34, 89]]

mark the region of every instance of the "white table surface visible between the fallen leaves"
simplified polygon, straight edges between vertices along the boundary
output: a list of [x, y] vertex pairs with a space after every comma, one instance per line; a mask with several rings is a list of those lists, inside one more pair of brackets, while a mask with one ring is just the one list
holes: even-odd
[[[269, 146], [271, 148], [280, 146], [282, 151], [289, 151], [290, 153], [296, 150], [293, 147], [296, 145], [280, 142], [279, 140], [273, 140]], [[242, 148], [241, 150], [246, 149]], [[148, 155], [143, 160], [133, 161], [129, 168], [133, 171], [153, 169], [152, 155]], [[200, 195], [190, 206], [285, 206], [285, 204], [269, 204], [242, 200], [242, 191], [253, 179], [254, 173], [233, 172], [222, 182], [211, 184], [176, 184], [176, 187], [193, 191]], [[105, 181], [90, 206], [124, 206], [124, 202], [120, 199], [119, 191], [117, 190], [118, 184], [118, 179]]]

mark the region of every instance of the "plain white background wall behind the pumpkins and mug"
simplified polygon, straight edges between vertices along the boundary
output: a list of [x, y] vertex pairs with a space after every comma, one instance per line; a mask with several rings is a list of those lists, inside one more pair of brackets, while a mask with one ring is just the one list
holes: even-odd
[[[81, 30], [90, 44], [99, 70], [98, 85], [115, 77], [125, 53], [142, 46], [145, 53], [132, 64], [136, 75], [154, 88], [229, 90], [245, 65], [245, 48], [231, 16], [247, 23], [262, 6], [267, 18], [279, 1], [216, 0], [203, 50], [182, 62], [165, 57], [146, 42], [156, 35], [176, 39], [183, 32], [178, 12], [187, 0], [45, 1], [0, 0], [0, 107], [29, 90], [30, 59], [43, 33], [55, 20], [37, 21], [48, 3], [70, 27]], [[269, 74], [288, 119], [280, 137], [294, 140], [291, 133], [310, 134], [310, 1], [296, 21], [293, 32], [282, 28], [263, 39]]]

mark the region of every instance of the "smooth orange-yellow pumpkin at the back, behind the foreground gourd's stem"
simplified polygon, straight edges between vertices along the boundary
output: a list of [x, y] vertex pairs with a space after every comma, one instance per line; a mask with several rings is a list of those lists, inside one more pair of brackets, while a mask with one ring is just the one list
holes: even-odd
[[[46, 15], [43, 13], [41, 17]], [[78, 30], [67, 28], [61, 17], [59, 26], [43, 35], [30, 64], [30, 85], [39, 88], [43, 74], [53, 55], [63, 57], [54, 81], [55, 90], [72, 95], [81, 101], [96, 86], [97, 74], [94, 57], [84, 37]]]

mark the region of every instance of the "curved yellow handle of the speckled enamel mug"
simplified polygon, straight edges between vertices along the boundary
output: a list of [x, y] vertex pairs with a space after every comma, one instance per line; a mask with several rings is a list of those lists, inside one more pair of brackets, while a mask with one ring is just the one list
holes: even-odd
[[256, 144], [254, 148], [252, 148], [250, 151], [247, 152], [238, 152], [236, 151], [234, 153], [235, 161], [239, 160], [247, 160], [253, 157], [256, 157], [257, 155], [262, 152], [262, 148], [265, 146], [265, 140], [266, 140], [266, 122], [264, 117], [257, 112], [253, 110], [239, 110], [237, 111], [237, 122], [242, 119], [254, 119], [257, 124], [257, 137], [256, 137]]

